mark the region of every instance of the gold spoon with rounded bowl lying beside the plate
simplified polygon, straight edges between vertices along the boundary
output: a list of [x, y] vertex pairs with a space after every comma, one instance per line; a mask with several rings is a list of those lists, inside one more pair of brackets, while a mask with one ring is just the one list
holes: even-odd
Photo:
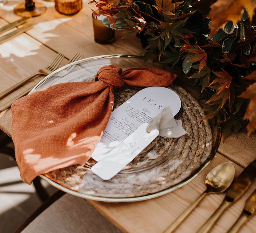
[[232, 183], [235, 176], [235, 167], [229, 163], [221, 163], [209, 171], [205, 178], [206, 190], [196, 198], [191, 205], [185, 209], [178, 218], [168, 227], [163, 233], [173, 232], [180, 223], [192, 212], [198, 203], [208, 193], [221, 193], [224, 192]]

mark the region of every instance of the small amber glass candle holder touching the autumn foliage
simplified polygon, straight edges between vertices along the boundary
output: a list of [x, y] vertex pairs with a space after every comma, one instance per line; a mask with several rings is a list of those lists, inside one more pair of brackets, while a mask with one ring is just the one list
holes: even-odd
[[115, 30], [106, 27], [102, 22], [103, 17], [92, 14], [92, 23], [94, 31], [94, 40], [100, 44], [110, 44], [115, 40]]

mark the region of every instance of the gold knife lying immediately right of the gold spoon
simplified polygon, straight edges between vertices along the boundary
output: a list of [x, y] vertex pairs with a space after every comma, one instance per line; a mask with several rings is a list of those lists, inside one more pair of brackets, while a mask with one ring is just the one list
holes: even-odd
[[206, 233], [209, 232], [213, 224], [219, 219], [221, 214], [238, 200], [247, 188], [250, 186], [252, 181], [256, 178], [256, 159], [251, 162], [235, 179], [235, 181], [227, 189], [226, 196], [219, 206], [219, 208], [212, 214], [212, 216], [204, 223], [204, 225], [197, 231], [197, 233]]

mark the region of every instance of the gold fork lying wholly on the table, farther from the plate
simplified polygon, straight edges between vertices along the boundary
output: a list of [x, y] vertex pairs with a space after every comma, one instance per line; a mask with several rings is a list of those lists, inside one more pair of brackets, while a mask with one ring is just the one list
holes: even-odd
[[48, 75], [48, 74], [52, 73], [53, 71], [55, 71], [58, 68], [58, 66], [60, 65], [60, 63], [62, 62], [63, 59], [64, 59], [64, 55], [62, 53], [59, 53], [54, 58], [54, 60], [52, 61], [52, 63], [50, 65], [40, 69], [37, 73], [34, 73], [33, 75], [30, 75], [26, 79], [23, 79], [19, 83], [13, 85], [12, 87], [10, 87], [7, 90], [5, 90], [4, 92], [0, 93], [0, 99], [2, 99], [3, 97], [7, 96], [8, 94], [13, 92], [17, 88], [21, 87], [24, 83], [30, 81], [35, 76], [37, 76], [37, 75]]

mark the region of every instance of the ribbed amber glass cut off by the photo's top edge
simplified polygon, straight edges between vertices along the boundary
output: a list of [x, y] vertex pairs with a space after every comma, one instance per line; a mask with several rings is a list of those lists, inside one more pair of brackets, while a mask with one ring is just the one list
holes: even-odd
[[74, 15], [83, 7], [82, 0], [55, 0], [55, 9], [63, 15]]

